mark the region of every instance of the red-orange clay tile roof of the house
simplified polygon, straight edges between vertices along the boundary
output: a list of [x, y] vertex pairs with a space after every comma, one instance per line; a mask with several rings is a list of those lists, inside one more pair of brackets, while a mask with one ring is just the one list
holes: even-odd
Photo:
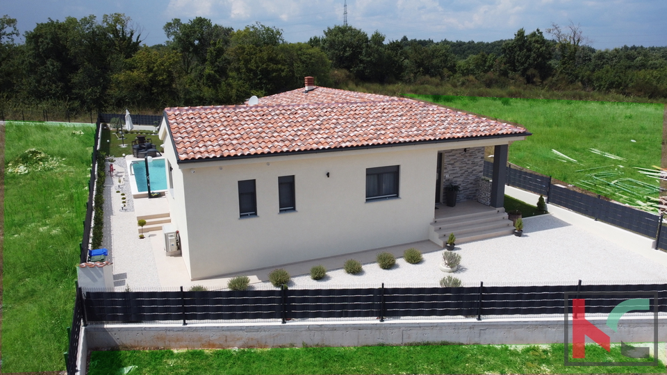
[[320, 87], [263, 97], [256, 106], [166, 108], [165, 116], [179, 160], [530, 134], [431, 103]]

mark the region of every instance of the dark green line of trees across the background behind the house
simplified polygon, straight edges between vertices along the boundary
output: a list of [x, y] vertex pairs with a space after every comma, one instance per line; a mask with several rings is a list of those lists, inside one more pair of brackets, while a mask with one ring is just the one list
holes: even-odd
[[667, 47], [596, 50], [578, 25], [552, 25], [495, 42], [387, 41], [353, 26], [333, 26], [306, 43], [288, 43], [260, 23], [234, 30], [210, 19], [172, 19], [164, 44], [142, 44], [120, 13], [37, 24], [19, 44], [16, 19], [0, 18], [0, 97], [13, 106], [57, 103], [67, 110], [242, 103], [302, 87], [350, 82], [436, 81], [667, 98]]

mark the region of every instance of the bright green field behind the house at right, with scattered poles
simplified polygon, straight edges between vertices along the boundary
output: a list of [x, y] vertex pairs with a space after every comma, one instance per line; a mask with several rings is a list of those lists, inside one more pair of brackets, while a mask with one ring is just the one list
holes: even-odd
[[659, 183], [634, 167], [651, 168], [661, 163], [662, 104], [440, 95], [409, 97], [525, 126], [533, 135], [511, 144], [510, 163], [634, 206], [641, 206], [638, 200], [647, 202], [647, 195], [658, 197]]

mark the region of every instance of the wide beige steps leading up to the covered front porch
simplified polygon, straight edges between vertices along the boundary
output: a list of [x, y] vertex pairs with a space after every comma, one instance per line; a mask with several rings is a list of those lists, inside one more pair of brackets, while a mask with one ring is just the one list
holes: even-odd
[[450, 233], [454, 233], [454, 236], [456, 236], [456, 244], [462, 244], [509, 235], [513, 231], [512, 222], [507, 219], [507, 213], [501, 207], [485, 212], [435, 219], [429, 229], [429, 240], [438, 246], [445, 247], [445, 242], [447, 242]]

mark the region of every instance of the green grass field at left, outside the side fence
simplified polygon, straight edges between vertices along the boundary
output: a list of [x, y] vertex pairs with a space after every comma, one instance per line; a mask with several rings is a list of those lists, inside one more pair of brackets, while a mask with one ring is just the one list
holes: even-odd
[[94, 131], [6, 125], [6, 166], [31, 148], [57, 158], [57, 165], [5, 174], [3, 373], [65, 369]]

